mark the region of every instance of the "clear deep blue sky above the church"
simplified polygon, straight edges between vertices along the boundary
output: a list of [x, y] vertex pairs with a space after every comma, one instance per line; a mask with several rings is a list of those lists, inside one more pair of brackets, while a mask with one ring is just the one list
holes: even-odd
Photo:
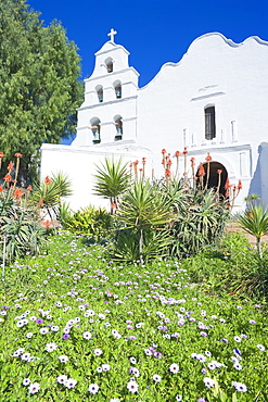
[[166, 62], [178, 62], [191, 42], [212, 32], [234, 42], [250, 36], [268, 41], [268, 0], [28, 0], [49, 25], [59, 20], [81, 56], [82, 78], [94, 52], [117, 30], [115, 42], [130, 52], [130, 65], [148, 84]]

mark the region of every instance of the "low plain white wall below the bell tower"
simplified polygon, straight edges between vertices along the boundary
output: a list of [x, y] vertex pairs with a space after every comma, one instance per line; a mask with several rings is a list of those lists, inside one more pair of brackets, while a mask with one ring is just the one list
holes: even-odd
[[95, 166], [101, 166], [105, 158], [122, 159], [129, 164], [136, 160], [146, 158], [148, 172], [150, 175], [152, 155], [150, 150], [137, 147], [132, 141], [124, 141], [119, 147], [116, 143], [95, 147], [69, 147], [43, 145], [41, 150], [41, 179], [51, 176], [52, 173], [65, 173], [72, 183], [73, 194], [66, 199], [73, 211], [89, 204], [104, 206], [110, 210], [110, 201], [95, 196], [93, 187], [95, 179]]

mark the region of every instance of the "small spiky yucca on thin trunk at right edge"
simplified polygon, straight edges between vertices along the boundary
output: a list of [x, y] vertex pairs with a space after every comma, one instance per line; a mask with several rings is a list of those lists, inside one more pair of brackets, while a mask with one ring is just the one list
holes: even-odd
[[268, 233], [268, 211], [264, 205], [252, 205], [239, 217], [239, 225], [256, 239], [258, 256], [263, 259], [261, 237]]

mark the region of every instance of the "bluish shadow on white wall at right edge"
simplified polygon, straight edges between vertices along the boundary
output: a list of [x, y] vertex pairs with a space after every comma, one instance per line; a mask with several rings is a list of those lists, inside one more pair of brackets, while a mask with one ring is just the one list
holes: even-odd
[[250, 194], [258, 194], [261, 203], [268, 204], [268, 142], [261, 142], [258, 147], [258, 160], [247, 197]]

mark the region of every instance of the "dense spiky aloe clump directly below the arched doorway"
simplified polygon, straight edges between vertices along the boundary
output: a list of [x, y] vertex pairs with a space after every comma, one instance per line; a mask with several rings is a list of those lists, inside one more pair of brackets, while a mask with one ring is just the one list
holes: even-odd
[[226, 201], [214, 189], [193, 189], [184, 180], [159, 185], [174, 210], [169, 226], [170, 256], [196, 254], [221, 239], [229, 212]]

